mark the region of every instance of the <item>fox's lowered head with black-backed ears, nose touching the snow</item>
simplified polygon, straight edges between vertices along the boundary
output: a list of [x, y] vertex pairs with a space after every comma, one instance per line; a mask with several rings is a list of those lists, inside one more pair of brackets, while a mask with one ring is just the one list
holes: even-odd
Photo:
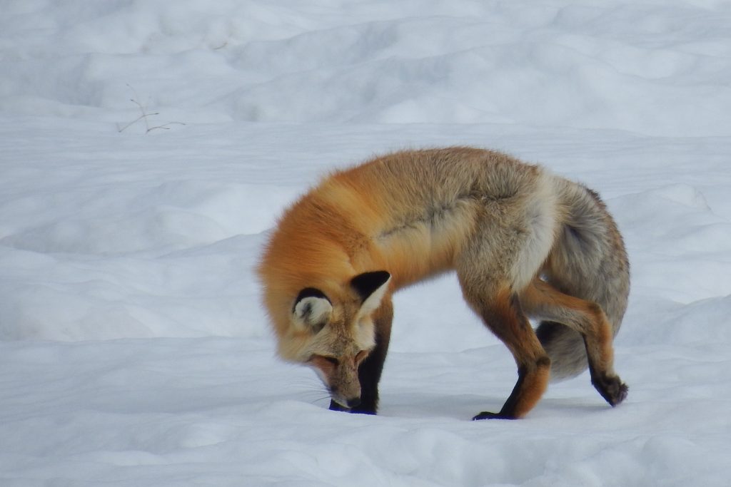
[[341, 406], [360, 404], [358, 366], [376, 345], [371, 315], [389, 281], [388, 272], [365, 272], [330, 295], [303, 288], [292, 305], [290, 323], [298, 350], [292, 350], [291, 358], [312, 367]]

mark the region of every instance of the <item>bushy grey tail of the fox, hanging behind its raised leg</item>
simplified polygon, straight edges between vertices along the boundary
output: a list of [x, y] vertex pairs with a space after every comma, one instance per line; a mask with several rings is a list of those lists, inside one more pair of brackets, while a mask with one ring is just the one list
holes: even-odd
[[[559, 186], [567, 220], [551, 251], [545, 279], [564, 294], [599, 304], [616, 335], [629, 295], [624, 241], [598, 194], [569, 181]], [[551, 358], [552, 380], [586, 370], [586, 348], [577, 331], [542, 321], [536, 334]]]

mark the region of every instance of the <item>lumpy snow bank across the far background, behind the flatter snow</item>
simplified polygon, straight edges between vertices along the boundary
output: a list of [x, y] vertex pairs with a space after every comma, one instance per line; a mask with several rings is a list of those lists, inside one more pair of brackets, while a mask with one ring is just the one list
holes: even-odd
[[[0, 109], [725, 135], [722, 4], [10, 1]], [[22, 43], [15, 39], [23, 38]], [[49, 59], [56, 59], [51, 63]]]

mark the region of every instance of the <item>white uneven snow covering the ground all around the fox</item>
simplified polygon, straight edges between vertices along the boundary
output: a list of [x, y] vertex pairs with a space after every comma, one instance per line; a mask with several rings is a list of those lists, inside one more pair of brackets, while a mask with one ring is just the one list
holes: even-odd
[[[4, 1], [0, 484], [726, 486], [730, 21], [713, 0]], [[453, 276], [396, 296], [378, 416], [328, 411], [274, 356], [252, 268], [281, 210], [457, 144], [616, 215], [620, 407], [584, 374], [469, 421], [515, 365]]]

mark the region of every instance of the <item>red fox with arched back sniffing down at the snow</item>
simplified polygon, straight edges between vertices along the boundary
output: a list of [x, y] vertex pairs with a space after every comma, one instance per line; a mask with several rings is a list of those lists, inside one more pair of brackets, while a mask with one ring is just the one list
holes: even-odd
[[374, 158], [292, 204], [258, 267], [281, 358], [314, 368], [330, 409], [368, 414], [391, 296], [447, 271], [518, 365], [501, 410], [474, 419], [521, 418], [549, 378], [586, 367], [609, 404], [625, 399], [612, 346], [629, 294], [624, 242], [594, 191], [540, 166], [470, 147]]

